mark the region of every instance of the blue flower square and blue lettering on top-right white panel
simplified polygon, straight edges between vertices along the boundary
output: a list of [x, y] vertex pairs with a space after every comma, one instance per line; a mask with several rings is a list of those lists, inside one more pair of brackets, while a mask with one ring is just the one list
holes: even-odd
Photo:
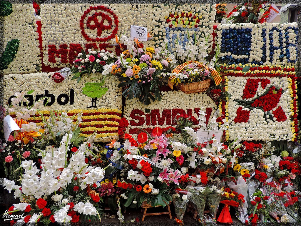
[[[258, 33], [261, 34], [260, 40], [258, 38], [252, 37], [252, 29], [254, 28], [228, 28], [221, 30], [221, 61], [226, 64], [264, 64], [264, 63], [275, 63], [281, 64], [282, 62], [295, 64], [297, 57], [294, 55], [294, 59], [290, 60], [292, 54], [297, 54], [297, 39], [298, 39], [298, 28], [297, 27], [286, 27], [281, 29], [281, 27], [272, 27], [271, 29], [259, 27]], [[277, 38], [273, 35], [277, 31]], [[256, 30], [257, 32], [257, 30]], [[293, 33], [296, 37], [293, 39]], [[258, 37], [258, 36], [256, 36]], [[269, 42], [267, 43], [267, 37]], [[254, 42], [251, 40], [255, 39]], [[285, 41], [284, 41], [285, 40]], [[251, 47], [258, 48], [259, 43], [263, 42], [259, 49], [254, 50], [254, 55], [250, 56]], [[293, 48], [292, 48], [293, 47]], [[289, 49], [290, 48], [290, 49]], [[280, 53], [279, 53], [280, 50]], [[227, 55], [230, 52], [231, 55]], [[267, 52], [269, 54], [267, 55]], [[224, 53], [224, 54], [223, 54]], [[252, 61], [250, 60], [252, 58]], [[269, 57], [269, 58], [268, 58]], [[277, 59], [276, 59], [277, 58]]]

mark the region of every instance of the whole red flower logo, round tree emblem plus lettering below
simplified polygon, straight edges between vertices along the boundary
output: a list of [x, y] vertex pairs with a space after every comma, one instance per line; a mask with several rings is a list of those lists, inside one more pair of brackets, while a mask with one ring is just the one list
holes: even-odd
[[[103, 5], [90, 6], [79, 21], [82, 36], [88, 41], [85, 44], [85, 52], [92, 48], [107, 50], [108, 44], [105, 42], [115, 37], [118, 24], [118, 17], [109, 8]], [[73, 64], [74, 59], [82, 50], [82, 45], [79, 43], [61, 44], [59, 48], [55, 45], [48, 45], [48, 62], [60, 61], [63, 64]], [[121, 52], [119, 47], [115, 47], [115, 51], [117, 55]]]

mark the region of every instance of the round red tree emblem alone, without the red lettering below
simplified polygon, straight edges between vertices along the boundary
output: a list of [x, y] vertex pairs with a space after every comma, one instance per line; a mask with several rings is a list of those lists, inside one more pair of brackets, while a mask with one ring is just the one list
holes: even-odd
[[[90, 15], [92, 10], [97, 12], [92, 12], [93, 14]], [[84, 12], [81, 20], [79, 21], [79, 26], [82, 31], [82, 36], [84, 36], [87, 41], [106, 42], [115, 37], [115, 34], [117, 34], [118, 23], [118, 17], [113, 13], [113, 11], [103, 5], [99, 5], [94, 7], [90, 6], [90, 8]], [[102, 37], [102, 32], [105, 30], [112, 30], [112, 33], [107, 37]], [[95, 31], [97, 34], [96, 38], [92, 35]]]

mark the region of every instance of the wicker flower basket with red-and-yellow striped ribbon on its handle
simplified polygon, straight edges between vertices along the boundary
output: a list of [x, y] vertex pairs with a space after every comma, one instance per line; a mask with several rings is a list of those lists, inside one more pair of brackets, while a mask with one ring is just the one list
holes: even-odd
[[168, 85], [174, 84], [184, 93], [199, 93], [209, 89], [211, 79], [218, 80], [218, 71], [198, 62], [188, 61], [178, 65], [169, 74]]

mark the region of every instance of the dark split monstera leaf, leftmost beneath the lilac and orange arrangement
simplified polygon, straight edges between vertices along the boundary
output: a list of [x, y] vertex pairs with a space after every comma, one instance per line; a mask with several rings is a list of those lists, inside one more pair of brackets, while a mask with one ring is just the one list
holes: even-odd
[[141, 89], [137, 80], [130, 80], [128, 77], [121, 77], [119, 78], [119, 81], [121, 81], [121, 83], [119, 83], [118, 87], [120, 88], [125, 86], [126, 88], [122, 93], [126, 99], [130, 100], [141, 95]]

